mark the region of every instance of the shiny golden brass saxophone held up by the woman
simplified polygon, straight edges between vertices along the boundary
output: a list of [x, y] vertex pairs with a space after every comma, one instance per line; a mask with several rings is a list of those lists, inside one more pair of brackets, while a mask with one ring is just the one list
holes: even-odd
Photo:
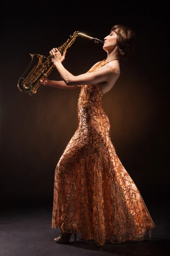
[[[64, 51], [68, 49], [68, 47], [71, 47], [77, 36], [88, 38], [90, 40], [93, 40], [95, 43], [103, 43], [102, 40], [92, 38], [85, 33], [76, 31], [72, 36], [70, 35], [70, 38], [68, 38], [68, 40], [65, 41], [64, 44], [62, 44], [62, 46], [58, 48], [61, 55], [63, 55]], [[45, 56], [31, 53], [30, 55], [32, 58], [31, 63], [29, 64], [26, 71], [23, 73], [23, 76], [21, 76], [18, 80], [17, 87], [21, 92], [33, 95], [34, 93], [37, 93], [37, 89], [41, 85], [40, 80], [43, 80], [51, 73], [54, 64], [51, 60], [51, 55], [49, 55], [44, 62], [42, 62], [42, 59], [45, 58]]]

